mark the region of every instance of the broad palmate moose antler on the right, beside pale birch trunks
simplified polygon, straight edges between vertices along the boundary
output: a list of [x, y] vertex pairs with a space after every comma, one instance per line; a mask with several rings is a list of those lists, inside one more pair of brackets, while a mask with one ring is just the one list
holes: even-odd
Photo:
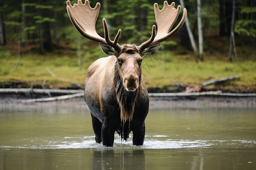
[[139, 49], [141, 51], [146, 49], [148, 46], [167, 40], [182, 27], [187, 17], [186, 8], [183, 9], [183, 16], [180, 20], [180, 23], [170, 32], [172, 26], [177, 20], [177, 17], [179, 16], [181, 8], [180, 5], [177, 6], [177, 9], [174, 6], [174, 2], [172, 2], [171, 5], [168, 5], [168, 2], [164, 1], [163, 9], [159, 10], [158, 4], [154, 4], [155, 20], [156, 24], [158, 25], [158, 32], [155, 36], [155, 25], [153, 25], [150, 39], [139, 45]]

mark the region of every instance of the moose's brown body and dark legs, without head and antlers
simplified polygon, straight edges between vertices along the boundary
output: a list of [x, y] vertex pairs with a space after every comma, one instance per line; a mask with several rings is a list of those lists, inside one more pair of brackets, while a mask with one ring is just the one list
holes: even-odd
[[[133, 56], [127, 59], [131, 65], [137, 62]], [[103, 141], [103, 145], [113, 146], [115, 131], [125, 140], [133, 131], [133, 144], [143, 145], [149, 99], [141, 68], [138, 72], [139, 87], [135, 91], [127, 91], [119, 75], [119, 67], [117, 57], [109, 56], [95, 61], [87, 72], [84, 96], [91, 112], [96, 142]], [[133, 79], [135, 71], [133, 68], [130, 70], [130, 79]], [[131, 82], [129, 85], [132, 88], [136, 84]], [[126, 122], [121, 121], [121, 111], [128, 119]]]

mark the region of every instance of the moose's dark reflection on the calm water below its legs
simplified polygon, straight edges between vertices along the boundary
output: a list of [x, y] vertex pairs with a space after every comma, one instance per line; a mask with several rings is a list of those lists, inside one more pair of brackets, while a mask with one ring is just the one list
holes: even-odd
[[144, 151], [95, 150], [92, 169], [145, 169]]

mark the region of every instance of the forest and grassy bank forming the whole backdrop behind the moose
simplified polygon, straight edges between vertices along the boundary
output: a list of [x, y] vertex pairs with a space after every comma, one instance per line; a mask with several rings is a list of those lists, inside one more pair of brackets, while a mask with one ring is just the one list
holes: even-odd
[[[84, 2], [84, 0], [82, 0]], [[119, 44], [141, 44], [151, 36], [155, 23], [154, 3], [163, 0], [91, 0], [101, 3], [96, 29], [104, 36], [106, 18], [110, 39], [122, 29]], [[172, 1], [168, 1], [170, 4]], [[253, 0], [180, 0], [175, 7], [187, 8], [187, 20], [170, 40], [163, 42], [155, 57], [143, 67], [152, 91], [175, 91], [170, 83], [197, 86], [209, 79], [241, 75], [236, 82], [215, 84], [234, 92], [256, 90], [256, 2]], [[77, 0], [71, 1], [72, 5]], [[183, 10], [176, 24], [179, 22]], [[175, 25], [174, 25], [175, 27]], [[63, 0], [1, 0], [1, 87], [46, 86], [75, 88], [56, 77], [83, 84], [86, 69], [104, 57], [97, 43], [80, 35], [69, 20]], [[221, 71], [222, 70], [222, 71]], [[55, 75], [55, 76], [53, 76]], [[158, 82], [158, 83], [156, 83]], [[42, 85], [43, 84], [43, 85]], [[160, 90], [157, 90], [160, 89]], [[165, 89], [165, 90], [164, 90]], [[183, 89], [184, 90], [184, 89]]]

